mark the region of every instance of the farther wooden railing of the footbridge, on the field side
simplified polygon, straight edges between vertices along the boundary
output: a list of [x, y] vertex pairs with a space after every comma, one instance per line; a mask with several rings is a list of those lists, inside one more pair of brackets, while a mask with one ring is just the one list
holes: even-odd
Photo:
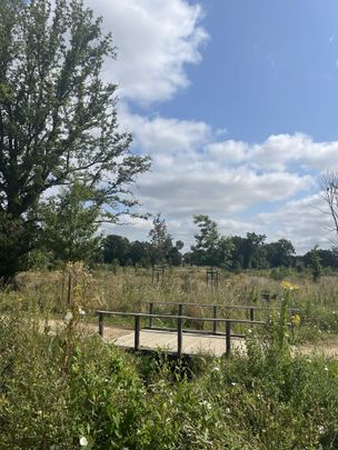
[[[165, 304], [165, 306], [173, 306], [177, 308], [177, 314], [182, 316], [183, 314], [183, 308], [185, 307], [197, 307], [197, 308], [202, 308], [202, 309], [211, 309], [212, 310], [212, 334], [220, 334], [218, 332], [218, 323], [219, 323], [219, 312], [225, 311], [225, 310], [237, 310], [237, 311], [247, 311], [248, 313], [248, 320], [250, 323], [255, 322], [255, 316], [257, 311], [279, 311], [279, 308], [272, 308], [272, 307], [254, 307], [254, 306], [242, 306], [242, 304], [210, 304], [210, 303], [192, 303], [192, 302], [166, 302], [166, 301], [146, 301], [146, 304], [149, 306], [149, 322], [148, 322], [148, 328], [149, 329], [162, 329], [162, 330], [170, 330], [169, 328], [165, 327], [153, 327], [153, 314], [155, 314], [155, 306], [157, 304]], [[291, 307], [289, 309], [290, 316], [295, 314], [296, 312], [299, 312], [298, 308]], [[191, 318], [188, 318], [191, 320]], [[225, 319], [225, 318], [222, 318]], [[235, 320], [235, 319], [233, 319]], [[232, 321], [233, 321], [232, 320]], [[211, 321], [210, 319], [208, 321]], [[190, 332], [195, 332], [196, 330], [189, 330]], [[198, 331], [201, 333], [202, 331]], [[208, 332], [210, 333], [210, 332]], [[221, 333], [222, 334], [222, 333]]]

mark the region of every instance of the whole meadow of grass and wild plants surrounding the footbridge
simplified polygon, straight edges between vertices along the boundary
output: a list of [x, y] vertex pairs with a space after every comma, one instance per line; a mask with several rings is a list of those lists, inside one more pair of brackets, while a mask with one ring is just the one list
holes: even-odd
[[[290, 284], [281, 284], [285, 276]], [[202, 268], [166, 269], [153, 283], [149, 269], [89, 273], [76, 264], [66, 273], [21, 273], [18, 288], [0, 294], [1, 449], [338, 448], [338, 360], [299, 350], [335, 346], [335, 274], [314, 283], [306, 273], [221, 271], [211, 289]], [[266, 306], [267, 294], [279, 312], [247, 334], [246, 356], [203, 354], [189, 370], [160, 352], [129, 354], [78, 327], [97, 323], [97, 308], [147, 311], [147, 301]], [[292, 332], [286, 306], [300, 309]], [[70, 311], [71, 320], [51, 333], [49, 320]]]

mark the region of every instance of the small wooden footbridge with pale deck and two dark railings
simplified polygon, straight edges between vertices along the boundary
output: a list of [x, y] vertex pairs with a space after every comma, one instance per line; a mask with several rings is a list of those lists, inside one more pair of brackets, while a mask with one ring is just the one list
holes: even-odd
[[[135, 351], [165, 351], [178, 357], [182, 354], [209, 353], [215, 357], [230, 354], [235, 349], [246, 351], [243, 330], [254, 326], [265, 326], [268, 313], [276, 312], [278, 308], [254, 306], [225, 306], [199, 303], [147, 302], [149, 312], [120, 312], [97, 311], [99, 317], [99, 334], [105, 338], [105, 317], [133, 319], [133, 330], [126, 330], [126, 334], [117, 338], [118, 347]], [[155, 312], [158, 306], [176, 309], [176, 314]], [[209, 309], [212, 317], [191, 317], [183, 314], [185, 308]], [[225, 318], [228, 311], [236, 311], [248, 316], [247, 319]], [[290, 309], [294, 314], [297, 309]], [[220, 317], [220, 312], [222, 317]], [[257, 313], [265, 313], [266, 320], [256, 320]], [[160, 327], [155, 327], [155, 321], [161, 321]], [[175, 327], [165, 327], [163, 322], [175, 323]], [[147, 322], [145, 324], [145, 322]], [[143, 326], [142, 326], [143, 324]], [[187, 324], [189, 328], [187, 328]], [[196, 326], [192, 328], [192, 326]], [[186, 327], [186, 328], [185, 328]], [[205, 329], [206, 327], [206, 329]], [[199, 328], [199, 329], [197, 329]], [[201, 329], [202, 328], [202, 329]], [[241, 332], [237, 330], [240, 329]]]

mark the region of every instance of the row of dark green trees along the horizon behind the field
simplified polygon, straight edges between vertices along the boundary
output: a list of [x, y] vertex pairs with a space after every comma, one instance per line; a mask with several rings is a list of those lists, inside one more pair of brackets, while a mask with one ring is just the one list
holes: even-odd
[[[182, 263], [193, 266], [213, 266], [230, 270], [268, 269], [278, 267], [314, 268], [320, 267], [338, 269], [338, 249], [312, 249], [305, 256], [296, 256], [291, 241], [279, 239], [266, 242], [265, 234], [248, 232], [246, 237], [222, 237], [217, 223], [208, 216], [196, 216], [193, 222], [198, 227], [195, 243], [190, 251], [181, 253], [183, 242], [173, 244], [168, 233], [167, 224], [158, 214], [153, 220], [153, 228], [149, 232], [148, 241], [132, 241], [127, 238], [110, 234], [102, 241], [101, 258], [106, 263], [121, 266], [152, 266]], [[320, 274], [320, 273], [319, 273]]]

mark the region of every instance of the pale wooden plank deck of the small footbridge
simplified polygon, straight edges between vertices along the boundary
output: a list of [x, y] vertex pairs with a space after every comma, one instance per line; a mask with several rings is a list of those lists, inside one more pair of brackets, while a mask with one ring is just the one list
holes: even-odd
[[[126, 330], [125, 336], [116, 338], [115, 343], [121, 348], [133, 348], [135, 332]], [[161, 330], [141, 330], [140, 350], [163, 350], [168, 352], [177, 351], [177, 333]], [[231, 350], [246, 352], [243, 339], [231, 338]], [[220, 357], [226, 352], [226, 338], [212, 334], [196, 334], [185, 332], [182, 336], [182, 353], [198, 354], [209, 353]]]

